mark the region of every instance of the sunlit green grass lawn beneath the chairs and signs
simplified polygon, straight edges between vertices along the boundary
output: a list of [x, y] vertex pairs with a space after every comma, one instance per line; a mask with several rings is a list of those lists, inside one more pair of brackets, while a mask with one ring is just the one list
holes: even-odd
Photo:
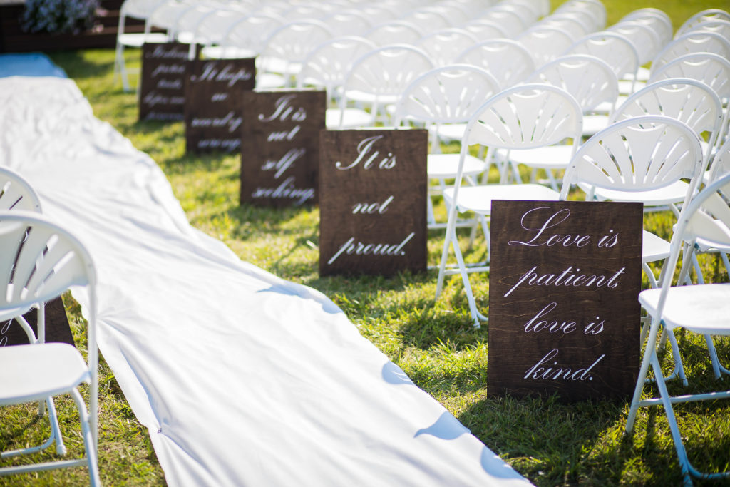
[[[609, 23], [639, 7], [631, 1], [605, 4], [611, 12]], [[640, 6], [669, 12], [676, 28], [692, 12], [713, 5], [707, 1], [655, 0]], [[128, 64], [139, 66], [138, 51], [128, 50], [126, 56]], [[123, 93], [112, 78], [112, 51], [57, 53], [52, 57], [76, 81], [98, 118], [112, 123], [135, 147], [157, 161], [193, 226], [223, 240], [245, 261], [329, 296], [364, 337], [529, 480], [540, 486], [680, 483], [674, 445], [661, 409], [641, 410], [634, 434], [625, 436], [626, 402], [561, 404], [554, 399], [488, 398], [488, 326], [478, 330], [472, 327], [458, 279], [447, 280], [444, 294], [434, 301], [435, 272], [388, 278], [320, 277], [317, 208], [269, 210], [239, 206], [238, 156], [187, 156], [182, 123], [137, 122], [134, 94]], [[672, 218], [653, 214], [647, 217], [646, 225], [668, 237]], [[442, 235], [431, 233], [428, 245], [429, 260], [435, 263]], [[468, 258], [477, 258], [484, 251], [482, 239]], [[727, 280], [717, 258], [703, 257], [702, 266], [708, 280]], [[488, 278], [472, 277], [477, 300], [485, 307]], [[84, 325], [78, 306], [69, 295], [64, 301], [74, 337], [83, 348]], [[679, 340], [691, 377], [688, 391], [716, 386], [702, 340], [691, 334]], [[730, 363], [728, 341], [718, 342], [718, 353], [723, 363]], [[669, 357], [664, 361], [669, 369]], [[107, 485], [163, 484], [164, 475], [147, 432], [134, 418], [103, 359], [100, 377], [102, 481]], [[676, 383], [670, 388], [675, 393], [685, 391]], [[69, 456], [79, 455], [82, 441], [72, 400], [62, 397], [57, 404]], [[703, 469], [729, 469], [730, 404], [685, 404], [677, 407], [677, 416], [692, 445], [691, 459]], [[47, 423], [37, 421], [31, 407], [0, 409], [2, 449], [37, 442], [47, 430]], [[42, 457], [51, 459], [55, 455], [44, 453]], [[72, 486], [87, 482], [88, 475], [82, 468], [0, 478], [0, 485]]]

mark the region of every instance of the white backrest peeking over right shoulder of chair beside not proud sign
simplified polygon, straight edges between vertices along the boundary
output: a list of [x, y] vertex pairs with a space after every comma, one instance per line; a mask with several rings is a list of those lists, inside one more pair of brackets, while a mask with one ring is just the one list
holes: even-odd
[[454, 62], [485, 69], [502, 88], [520, 83], [535, 70], [535, 62], [526, 47], [510, 39], [479, 42], [461, 53]]

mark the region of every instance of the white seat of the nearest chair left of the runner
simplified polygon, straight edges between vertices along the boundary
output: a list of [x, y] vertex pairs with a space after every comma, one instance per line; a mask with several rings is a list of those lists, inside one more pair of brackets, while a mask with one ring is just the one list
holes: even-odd
[[88, 377], [81, 354], [67, 343], [0, 348], [0, 405], [55, 396], [78, 386]]

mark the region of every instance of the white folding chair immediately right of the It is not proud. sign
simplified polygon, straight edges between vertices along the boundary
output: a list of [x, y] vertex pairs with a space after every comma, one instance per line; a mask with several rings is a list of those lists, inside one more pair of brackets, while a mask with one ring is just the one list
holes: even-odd
[[[458, 124], [462, 134], [466, 122], [483, 102], [499, 91], [499, 83], [485, 70], [466, 64], [442, 66], [422, 74], [405, 88], [395, 110], [394, 125], [404, 122], [419, 123], [431, 133], [431, 152], [428, 158], [429, 180], [437, 185], [429, 186], [427, 216], [429, 229], [442, 229], [445, 222], [437, 221], [432, 199], [442, 196], [447, 180], [457, 174], [458, 153], [443, 154], [439, 148], [439, 129]], [[488, 165], [481, 158], [467, 154], [461, 175], [471, 185], [485, 173]], [[475, 221], [459, 221], [457, 226], [474, 226]]]

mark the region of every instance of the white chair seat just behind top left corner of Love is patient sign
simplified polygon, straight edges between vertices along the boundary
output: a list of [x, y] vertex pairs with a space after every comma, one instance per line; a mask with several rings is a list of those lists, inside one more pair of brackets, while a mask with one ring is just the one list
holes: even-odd
[[[448, 204], [453, 202], [453, 188], [444, 190]], [[493, 199], [535, 200], [556, 202], [560, 193], [539, 184], [488, 184], [461, 186], [458, 191], [457, 209], [460, 212], [473, 211], [490, 215]]]

